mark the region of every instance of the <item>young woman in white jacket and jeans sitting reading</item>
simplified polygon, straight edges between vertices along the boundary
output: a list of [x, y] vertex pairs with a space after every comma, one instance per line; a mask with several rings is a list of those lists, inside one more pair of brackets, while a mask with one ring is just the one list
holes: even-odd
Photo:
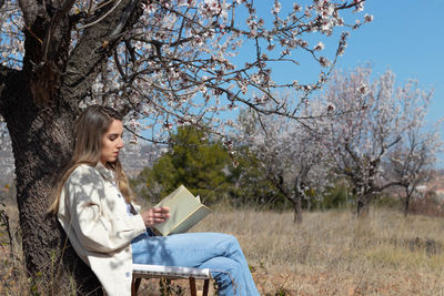
[[153, 236], [167, 207], [139, 212], [119, 162], [122, 116], [87, 108], [74, 125], [74, 152], [50, 211], [108, 295], [131, 295], [132, 263], [210, 268], [220, 295], [259, 295], [238, 241], [225, 234]]

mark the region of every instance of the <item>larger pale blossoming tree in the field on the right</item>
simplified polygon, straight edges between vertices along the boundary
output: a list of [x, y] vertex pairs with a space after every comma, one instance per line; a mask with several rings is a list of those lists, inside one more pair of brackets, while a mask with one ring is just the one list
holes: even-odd
[[331, 115], [317, 122], [337, 174], [357, 196], [357, 215], [389, 187], [416, 186], [441, 145], [437, 131], [422, 130], [432, 92], [414, 81], [396, 88], [390, 71], [372, 82], [371, 72], [334, 74], [323, 94]]

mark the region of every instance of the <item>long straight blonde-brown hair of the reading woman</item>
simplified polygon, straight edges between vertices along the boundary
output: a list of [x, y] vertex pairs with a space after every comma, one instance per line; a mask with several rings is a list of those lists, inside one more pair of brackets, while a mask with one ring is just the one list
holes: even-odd
[[[74, 151], [71, 160], [57, 181], [56, 188], [52, 193], [53, 203], [49, 208], [51, 214], [56, 215], [59, 212], [60, 195], [68, 177], [81, 164], [95, 166], [99, 163], [104, 134], [113, 120], [122, 121], [122, 115], [112, 108], [91, 105], [75, 120], [73, 130]], [[133, 194], [129, 186], [128, 177], [123, 172], [119, 159], [113, 163], [108, 163], [107, 166], [114, 171], [119, 190], [127, 203], [133, 201]]]

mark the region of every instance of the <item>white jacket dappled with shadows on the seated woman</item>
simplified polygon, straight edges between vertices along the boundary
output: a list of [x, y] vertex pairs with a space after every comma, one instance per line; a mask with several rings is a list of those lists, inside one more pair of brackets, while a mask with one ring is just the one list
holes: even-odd
[[100, 162], [77, 167], [63, 186], [58, 218], [107, 294], [131, 295], [131, 241], [147, 229], [141, 215], [127, 213], [113, 174]]

